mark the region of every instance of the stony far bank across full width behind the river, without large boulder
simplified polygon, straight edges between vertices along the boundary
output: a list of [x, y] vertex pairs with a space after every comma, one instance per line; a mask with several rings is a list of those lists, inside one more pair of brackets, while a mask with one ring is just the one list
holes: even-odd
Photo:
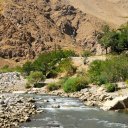
[[79, 98], [87, 106], [96, 106], [102, 108], [106, 101], [112, 101], [116, 97], [126, 96], [128, 88], [125, 82], [118, 84], [118, 90], [108, 93], [104, 86], [97, 86], [89, 84], [87, 88], [79, 92], [65, 93], [62, 89], [55, 91], [48, 91], [47, 84], [57, 82], [59, 79], [46, 79], [45, 86], [41, 88], [25, 88], [27, 82], [23, 76], [17, 72], [2, 73], [0, 74], [0, 93], [37, 93], [49, 94], [62, 97], [75, 97]]

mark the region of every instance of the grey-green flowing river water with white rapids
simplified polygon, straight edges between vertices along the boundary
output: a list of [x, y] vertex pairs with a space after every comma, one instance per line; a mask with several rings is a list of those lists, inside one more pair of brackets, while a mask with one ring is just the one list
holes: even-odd
[[[128, 115], [104, 112], [84, 106], [75, 98], [35, 95], [36, 104], [44, 112], [34, 116], [21, 128], [128, 128]], [[44, 102], [48, 100], [49, 102]], [[53, 108], [59, 105], [60, 108]]]

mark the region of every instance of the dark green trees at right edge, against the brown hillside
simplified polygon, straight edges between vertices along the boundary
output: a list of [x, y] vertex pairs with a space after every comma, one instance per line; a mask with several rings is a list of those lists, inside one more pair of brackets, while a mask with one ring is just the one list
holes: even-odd
[[103, 33], [99, 38], [99, 43], [104, 46], [107, 51], [108, 47], [111, 47], [113, 52], [121, 53], [128, 49], [128, 24], [121, 26], [117, 30], [110, 30], [105, 26]]

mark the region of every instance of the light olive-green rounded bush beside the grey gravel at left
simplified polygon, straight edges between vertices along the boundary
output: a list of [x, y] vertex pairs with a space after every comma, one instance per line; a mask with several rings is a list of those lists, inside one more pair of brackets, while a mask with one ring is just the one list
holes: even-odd
[[31, 72], [30, 75], [27, 77], [28, 81], [30, 83], [38, 83], [39, 81], [41, 81], [42, 79], [44, 79], [44, 76], [42, 74], [42, 72], [40, 71], [35, 71], [35, 72]]

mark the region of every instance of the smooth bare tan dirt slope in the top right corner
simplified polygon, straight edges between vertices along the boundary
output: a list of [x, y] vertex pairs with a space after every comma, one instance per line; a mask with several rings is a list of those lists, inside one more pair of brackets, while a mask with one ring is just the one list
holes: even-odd
[[87, 14], [116, 26], [128, 21], [128, 0], [66, 0]]

